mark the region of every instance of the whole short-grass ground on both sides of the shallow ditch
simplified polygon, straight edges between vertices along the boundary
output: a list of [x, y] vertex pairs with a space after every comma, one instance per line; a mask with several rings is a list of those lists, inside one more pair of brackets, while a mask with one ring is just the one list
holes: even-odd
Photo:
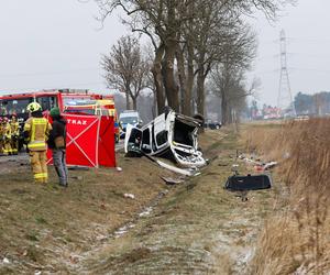
[[204, 133], [210, 164], [175, 186], [160, 178], [174, 174], [123, 153], [122, 172], [70, 170], [68, 188], [53, 167], [40, 186], [25, 158], [0, 161], [0, 274], [248, 274], [280, 187], [245, 202], [223, 189], [237, 138], [229, 129]]

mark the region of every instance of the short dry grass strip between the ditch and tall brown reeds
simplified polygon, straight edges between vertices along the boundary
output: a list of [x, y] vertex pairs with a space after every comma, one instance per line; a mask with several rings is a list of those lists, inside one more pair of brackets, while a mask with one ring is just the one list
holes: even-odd
[[[276, 188], [251, 193], [245, 202], [222, 188], [235, 162], [233, 130], [206, 131], [200, 146], [213, 160], [202, 174], [174, 186], [151, 216], [141, 219], [125, 237], [94, 253], [81, 274], [245, 272], [260, 226], [273, 211]], [[243, 165], [240, 172], [248, 173]]]

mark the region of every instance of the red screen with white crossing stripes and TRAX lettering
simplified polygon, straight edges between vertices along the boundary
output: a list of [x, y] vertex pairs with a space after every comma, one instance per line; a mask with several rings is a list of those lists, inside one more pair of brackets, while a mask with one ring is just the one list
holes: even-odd
[[[116, 167], [112, 117], [65, 114], [67, 165]], [[52, 152], [48, 152], [48, 163]]]

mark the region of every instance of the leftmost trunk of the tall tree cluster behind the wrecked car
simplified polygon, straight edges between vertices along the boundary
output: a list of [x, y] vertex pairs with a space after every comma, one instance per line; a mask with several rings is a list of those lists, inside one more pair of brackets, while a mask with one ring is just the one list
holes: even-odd
[[155, 59], [152, 67], [152, 74], [154, 77], [155, 89], [154, 94], [157, 102], [157, 113], [163, 112], [165, 108], [165, 97], [164, 97], [164, 86], [163, 86], [163, 77], [162, 77], [162, 58], [164, 55], [164, 45], [160, 45], [155, 51]]

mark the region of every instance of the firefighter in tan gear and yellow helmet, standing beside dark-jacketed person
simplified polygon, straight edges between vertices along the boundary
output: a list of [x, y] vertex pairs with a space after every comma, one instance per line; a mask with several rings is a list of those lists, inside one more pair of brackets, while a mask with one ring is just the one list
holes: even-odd
[[28, 143], [34, 182], [46, 184], [48, 182], [46, 141], [52, 127], [43, 118], [42, 107], [37, 102], [30, 103], [26, 110], [30, 113], [30, 118], [24, 124], [24, 139], [25, 143]]

